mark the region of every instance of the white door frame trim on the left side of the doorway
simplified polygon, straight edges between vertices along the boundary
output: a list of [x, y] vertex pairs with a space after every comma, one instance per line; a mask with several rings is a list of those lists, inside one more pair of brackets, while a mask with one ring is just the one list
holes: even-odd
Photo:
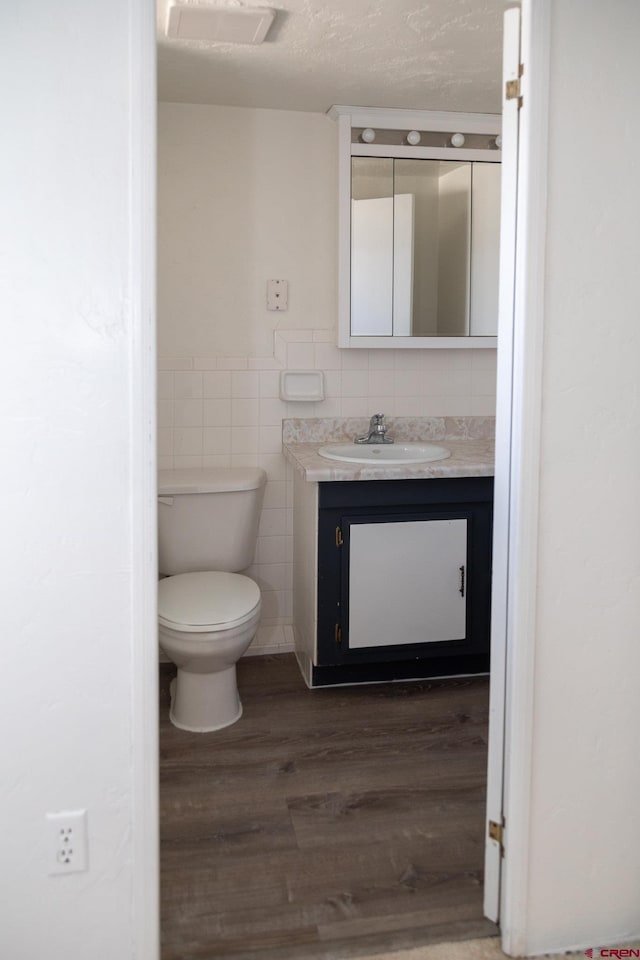
[[135, 960], [160, 956], [158, 564], [156, 469], [156, 23], [154, 4], [130, 4], [132, 340], [131, 662], [133, 937]]

